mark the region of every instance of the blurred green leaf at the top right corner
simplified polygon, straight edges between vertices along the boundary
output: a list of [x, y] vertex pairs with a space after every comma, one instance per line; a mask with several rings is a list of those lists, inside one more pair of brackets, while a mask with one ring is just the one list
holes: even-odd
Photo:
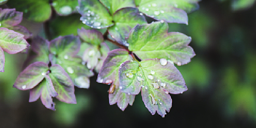
[[252, 7], [255, 3], [255, 0], [232, 0], [231, 7], [232, 10], [243, 10]]

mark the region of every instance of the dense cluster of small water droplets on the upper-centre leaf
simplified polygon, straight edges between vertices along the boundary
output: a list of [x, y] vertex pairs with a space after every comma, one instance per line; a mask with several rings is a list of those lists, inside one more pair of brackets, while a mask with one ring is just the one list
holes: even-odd
[[107, 19], [100, 17], [98, 14], [95, 14], [92, 10], [89, 10], [87, 8], [84, 8], [84, 10], [80, 10], [79, 7], [76, 7], [76, 8], [78, 12], [82, 14], [82, 17], [80, 18], [80, 20], [84, 24], [96, 29], [102, 29], [110, 26], [110, 25], [106, 25], [108, 24]]

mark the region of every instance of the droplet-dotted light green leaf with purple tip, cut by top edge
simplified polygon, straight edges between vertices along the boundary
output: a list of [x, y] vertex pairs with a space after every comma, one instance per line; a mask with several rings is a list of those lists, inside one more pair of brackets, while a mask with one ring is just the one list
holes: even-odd
[[[165, 20], [169, 23], [188, 24], [187, 13], [176, 7], [178, 0], [140, 0], [136, 2], [138, 9], [149, 17], [156, 20]], [[186, 0], [179, 0], [184, 3]]]

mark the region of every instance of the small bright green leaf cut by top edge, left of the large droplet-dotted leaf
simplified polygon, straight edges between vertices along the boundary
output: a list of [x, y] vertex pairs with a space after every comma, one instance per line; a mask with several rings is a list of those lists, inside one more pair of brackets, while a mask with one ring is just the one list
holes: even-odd
[[135, 7], [134, 0], [100, 0], [100, 2], [108, 8], [110, 14], [114, 14], [120, 8]]

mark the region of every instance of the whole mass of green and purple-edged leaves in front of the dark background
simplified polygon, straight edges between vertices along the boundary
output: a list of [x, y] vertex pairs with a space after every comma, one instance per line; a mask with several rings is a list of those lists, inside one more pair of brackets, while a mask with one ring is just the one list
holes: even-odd
[[[178, 32], [168, 33], [168, 23], [188, 25], [187, 13], [198, 9], [198, 1], [52, 0], [52, 3], [48, 3], [46, 0], [8, 0], [6, 4], [23, 12], [26, 19], [45, 22], [46, 38], [50, 40], [52, 32], [56, 37], [51, 41], [42, 36], [30, 38], [31, 49], [25, 64], [28, 66], [18, 76], [14, 87], [29, 89], [29, 102], [40, 97], [46, 108], [55, 110], [52, 97], [75, 104], [74, 86], [89, 88], [89, 77], [95, 71], [98, 73], [97, 82], [110, 84], [110, 105], [117, 103], [124, 111], [141, 91], [142, 100], [151, 114], [157, 112], [164, 117], [172, 107], [169, 93], [179, 94], [187, 90], [174, 64], [187, 64], [195, 56], [193, 48], [188, 46], [191, 37]], [[7, 10], [15, 12], [15, 9]], [[76, 19], [74, 22], [63, 22], [67, 26], [70, 24], [77, 32], [62, 32], [64, 29], [56, 28], [61, 20], [56, 19], [55, 24], [51, 24], [55, 12], [60, 19], [60, 16], [68, 15], [77, 18], [72, 13], [78, 12], [85, 25]], [[22, 13], [10, 16], [2, 16], [1, 23], [7, 27], [16, 26], [21, 21]], [[20, 18], [15, 18], [18, 16]], [[150, 20], [154, 21], [148, 23]], [[51, 31], [49, 25], [58, 30]], [[5, 28], [1, 30], [1, 35], [11, 31]], [[26, 35], [24, 31], [18, 32]], [[14, 31], [6, 36], [12, 37], [12, 33]], [[22, 34], [13, 35], [23, 37]], [[8, 41], [10, 39], [2, 42]], [[22, 41], [16, 42], [24, 49], [28, 44], [24, 43], [24, 39]], [[110, 51], [109, 42], [119, 48]], [[7, 47], [9, 45], [0, 46], [10, 53], [23, 50], [12, 50]], [[4, 60], [3, 57], [1, 59]]]

